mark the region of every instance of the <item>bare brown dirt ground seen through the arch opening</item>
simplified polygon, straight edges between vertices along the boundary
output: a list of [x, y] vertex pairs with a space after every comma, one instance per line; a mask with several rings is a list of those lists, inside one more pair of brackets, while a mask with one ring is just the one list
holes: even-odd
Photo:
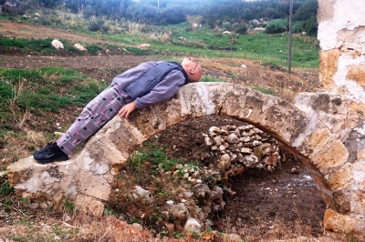
[[[211, 126], [243, 124], [228, 116], [200, 117], [171, 126], [153, 141], [168, 146], [171, 157], [200, 160], [209, 166], [216, 160], [204, 146], [202, 133]], [[293, 167], [297, 172], [291, 172]], [[223, 213], [214, 215], [214, 228], [218, 230], [228, 226], [245, 236], [247, 229], [251, 229], [250, 234], [254, 229], [257, 237], [263, 237], [280, 224], [293, 234], [298, 229], [314, 237], [323, 234], [325, 203], [306, 168], [290, 154], [274, 172], [249, 169], [235, 176], [232, 189], [235, 197], [226, 201]]]

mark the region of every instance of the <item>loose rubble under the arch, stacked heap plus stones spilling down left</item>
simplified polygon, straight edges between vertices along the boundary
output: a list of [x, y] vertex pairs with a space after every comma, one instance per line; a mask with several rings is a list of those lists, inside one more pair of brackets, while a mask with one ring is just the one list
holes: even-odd
[[[194, 212], [195, 220], [207, 226], [209, 215], [222, 211], [227, 197], [235, 196], [230, 187], [230, 179], [242, 174], [246, 169], [259, 168], [273, 171], [283, 160], [280, 148], [275, 138], [268, 136], [255, 126], [212, 126], [208, 134], [203, 134], [203, 140], [209, 147], [211, 154], [217, 157], [213, 166], [199, 168], [198, 166], [181, 165], [175, 167], [174, 172], [165, 172], [176, 179], [185, 179], [191, 184], [191, 192], [179, 192], [183, 203], [179, 206], [189, 207], [188, 200], [193, 199], [193, 204], [201, 209]], [[222, 187], [216, 186], [221, 184]], [[189, 193], [190, 196], [183, 194]], [[166, 209], [173, 214], [174, 205]], [[190, 208], [188, 209], [190, 211]], [[191, 211], [190, 211], [191, 213]], [[190, 217], [183, 217], [180, 223], [187, 223]], [[186, 227], [186, 225], [185, 225]]]

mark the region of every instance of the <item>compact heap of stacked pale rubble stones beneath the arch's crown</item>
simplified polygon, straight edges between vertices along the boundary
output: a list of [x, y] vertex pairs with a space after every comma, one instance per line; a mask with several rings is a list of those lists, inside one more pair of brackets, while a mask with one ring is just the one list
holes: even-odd
[[276, 139], [255, 126], [212, 126], [203, 136], [228, 179], [247, 168], [274, 171], [282, 159]]

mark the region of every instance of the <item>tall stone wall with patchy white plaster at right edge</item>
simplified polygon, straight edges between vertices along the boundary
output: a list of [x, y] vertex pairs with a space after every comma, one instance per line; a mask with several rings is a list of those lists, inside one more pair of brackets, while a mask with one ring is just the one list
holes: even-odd
[[[341, 138], [349, 156], [337, 172], [328, 176], [336, 187], [339, 207], [328, 208], [327, 228], [349, 232], [361, 221], [365, 233], [365, 2], [358, 0], [319, 0], [318, 39], [320, 41], [320, 81], [325, 90], [339, 93], [349, 103], [349, 114], [359, 116], [345, 124]], [[328, 114], [329, 115], [329, 114]], [[335, 152], [331, 152], [337, 156]], [[323, 161], [325, 162], [325, 161]], [[352, 174], [352, 176], [351, 176]], [[341, 189], [339, 189], [341, 187]], [[355, 229], [356, 230], [356, 229]]]

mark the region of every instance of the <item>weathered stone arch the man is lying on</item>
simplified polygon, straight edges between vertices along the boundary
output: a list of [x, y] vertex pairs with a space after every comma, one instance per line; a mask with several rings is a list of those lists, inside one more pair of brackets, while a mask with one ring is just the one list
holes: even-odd
[[[32, 157], [8, 166], [19, 197], [46, 197], [55, 207], [64, 197], [101, 214], [110, 184], [133, 150], [163, 129], [197, 116], [224, 115], [276, 137], [307, 166], [328, 206], [324, 223], [341, 232], [365, 231], [365, 161], [354, 139], [364, 131], [344, 96], [302, 93], [296, 105], [228, 83], [183, 86], [171, 101], [116, 116], [84, 149], [65, 162], [39, 165]], [[357, 132], [357, 133], [354, 133]], [[41, 199], [42, 200], [42, 199]], [[40, 204], [42, 206], [42, 204]]]

